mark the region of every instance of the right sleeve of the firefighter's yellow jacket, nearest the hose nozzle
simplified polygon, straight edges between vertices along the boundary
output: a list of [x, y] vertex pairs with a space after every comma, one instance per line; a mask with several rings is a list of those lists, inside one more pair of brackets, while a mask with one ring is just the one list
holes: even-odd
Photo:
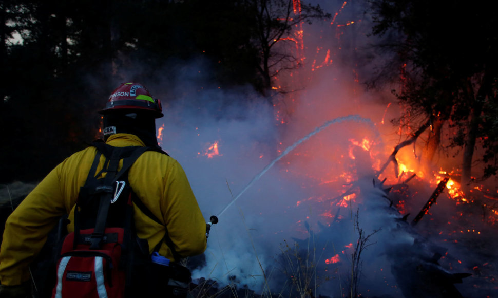
[[175, 250], [182, 257], [206, 250], [206, 221], [181, 165], [174, 161], [161, 202], [164, 222]]

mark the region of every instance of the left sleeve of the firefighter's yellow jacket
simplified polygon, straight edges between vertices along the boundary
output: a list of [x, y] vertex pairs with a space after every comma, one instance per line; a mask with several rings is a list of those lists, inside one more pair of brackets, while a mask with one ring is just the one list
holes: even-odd
[[28, 280], [30, 262], [66, 212], [60, 188], [63, 163], [34, 188], [5, 223], [0, 249], [0, 281], [3, 285], [19, 285]]

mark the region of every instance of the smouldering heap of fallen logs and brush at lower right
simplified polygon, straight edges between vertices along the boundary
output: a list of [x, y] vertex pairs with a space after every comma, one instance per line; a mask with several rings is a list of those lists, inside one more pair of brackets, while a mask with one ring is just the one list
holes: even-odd
[[484, 187], [465, 195], [454, 173], [410, 170], [396, 158], [400, 146], [380, 166], [371, 141], [350, 141], [341, 193], [307, 199], [327, 219], [303, 223], [309, 237], [295, 239], [286, 282], [334, 297], [492, 297], [496, 196]]

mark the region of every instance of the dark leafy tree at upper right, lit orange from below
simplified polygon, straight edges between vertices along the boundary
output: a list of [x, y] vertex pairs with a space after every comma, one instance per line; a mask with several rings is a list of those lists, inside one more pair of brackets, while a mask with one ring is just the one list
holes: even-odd
[[[405, 106], [401, 124], [414, 131], [430, 128], [424, 162], [431, 163], [443, 134], [450, 147], [463, 151], [462, 185], [468, 193], [473, 165], [483, 166], [476, 175], [482, 179], [497, 170], [496, 10], [484, 3], [449, 8], [411, 0], [373, 0], [371, 5], [372, 32], [384, 38], [377, 47], [394, 54], [372, 83], [397, 83], [393, 93]], [[471, 40], [465, 32], [472, 32]]]

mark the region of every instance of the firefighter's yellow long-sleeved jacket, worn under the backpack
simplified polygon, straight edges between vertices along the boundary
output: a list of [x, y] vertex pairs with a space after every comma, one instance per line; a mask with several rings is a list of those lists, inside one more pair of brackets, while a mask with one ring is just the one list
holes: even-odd
[[[145, 146], [135, 135], [116, 134], [107, 144]], [[0, 281], [18, 285], [29, 278], [28, 266], [40, 252], [47, 234], [63, 214], [74, 218], [80, 187], [86, 181], [95, 157], [95, 147], [76, 152], [55, 167], [22, 201], [5, 224], [0, 249]], [[102, 156], [97, 172], [104, 164]], [[122, 162], [119, 166], [121, 168]], [[175, 250], [183, 257], [198, 255], [206, 249], [206, 222], [190, 188], [185, 172], [173, 158], [154, 151], [142, 154], [131, 166], [128, 180], [140, 200], [167, 227]], [[140, 238], [147, 239], [150, 253], [164, 237], [159, 225], [134, 206], [135, 225]], [[68, 231], [74, 230], [73, 223]], [[174, 260], [166, 244], [161, 255]]]

